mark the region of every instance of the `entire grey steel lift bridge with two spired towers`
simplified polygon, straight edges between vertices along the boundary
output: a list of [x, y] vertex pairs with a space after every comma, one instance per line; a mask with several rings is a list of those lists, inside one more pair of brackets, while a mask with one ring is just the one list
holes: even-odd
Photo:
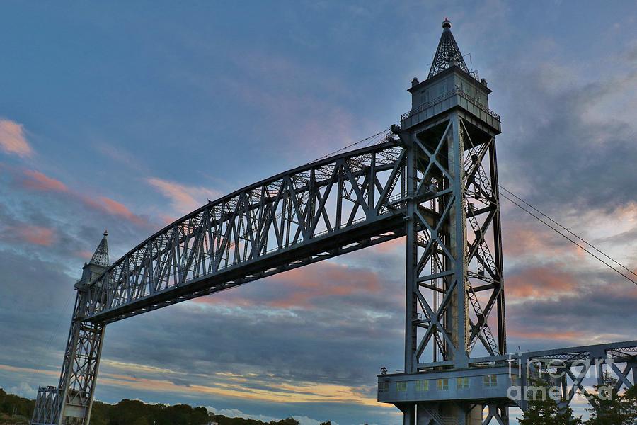
[[[405, 365], [379, 402], [412, 425], [508, 424], [536, 364], [561, 364], [566, 404], [591, 369], [637, 378], [637, 341], [507, 354], [500, 194], [485, 79], [442, 23], [411, 111], [382, 142], [285, 171], [207, 203], [110, 264], [106, 234], [76, 283], [62, 373], [31, 424], [88, 425], [108, 323], [406, 237]], [[555, 363], [559, 362], [559, 363]], [[631, 377], [632, 374], [632, 377]], [[601, 378], [598, 378], [601, 379]]]

